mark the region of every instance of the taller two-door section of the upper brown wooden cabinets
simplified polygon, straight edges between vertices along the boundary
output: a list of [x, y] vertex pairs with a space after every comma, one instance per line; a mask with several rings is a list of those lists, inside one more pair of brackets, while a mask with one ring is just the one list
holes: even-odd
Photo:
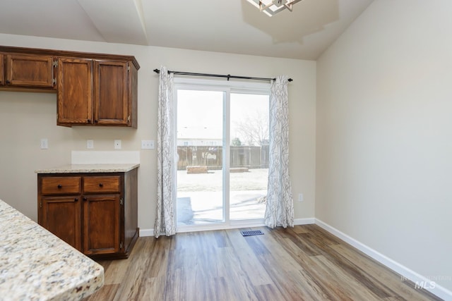
[[136, 128], [136, 74], [131, 61], [58, 60], [58, 124]]

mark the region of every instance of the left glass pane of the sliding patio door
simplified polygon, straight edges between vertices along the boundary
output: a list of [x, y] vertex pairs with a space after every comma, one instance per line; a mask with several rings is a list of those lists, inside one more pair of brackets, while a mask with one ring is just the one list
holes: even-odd
[[177, 90], [177, 224], [225, 221], [225, 93]]

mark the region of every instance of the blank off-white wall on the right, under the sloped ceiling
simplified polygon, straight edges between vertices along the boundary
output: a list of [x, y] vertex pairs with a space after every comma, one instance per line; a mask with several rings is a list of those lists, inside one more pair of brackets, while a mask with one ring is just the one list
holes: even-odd
[[375, 0], [317, 61], [316, 218], [452, 290], [452, 1]]

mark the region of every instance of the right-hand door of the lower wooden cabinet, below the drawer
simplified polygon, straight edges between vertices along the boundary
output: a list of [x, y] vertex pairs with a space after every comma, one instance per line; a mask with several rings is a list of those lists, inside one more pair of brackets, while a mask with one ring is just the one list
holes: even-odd
[[83, 197], [83, 252], [109, 254], [119, 252], [120, 195]]

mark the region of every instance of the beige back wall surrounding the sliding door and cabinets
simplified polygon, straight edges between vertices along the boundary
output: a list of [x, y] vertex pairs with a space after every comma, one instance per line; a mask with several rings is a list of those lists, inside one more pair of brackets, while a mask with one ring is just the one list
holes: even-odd
[[[156, 152], [141, 150], [141, 140], [156, 140], [158, 75], [153, 69], [273, 77], [289, 75], [290, 144], [294, 195], [304, 193], [295, 204], [295, 218], [314, 217], [315, 188], [315, 98], [316, 62], [260, 56], [220, 54], [204, 51], [143, 47], [127, 44], [81, 42], [65, 39], [0, 35], [0, 44], [72, 51], [136, 56], [138, 70], [138, 129], [57, 126], [56, 94], [0, 91], [0, 199], [37, 219], [37, 168], [71, 161], [71, 150], [85, 150], [87, 139], [93, 150], [114, 150], [113, 140], [122, 140], [123, 150], [139, 150], [138, 226], [151, 229], [155, 218], [157, 186]], [[49, 149], [40, 149], [47, 137]]]

